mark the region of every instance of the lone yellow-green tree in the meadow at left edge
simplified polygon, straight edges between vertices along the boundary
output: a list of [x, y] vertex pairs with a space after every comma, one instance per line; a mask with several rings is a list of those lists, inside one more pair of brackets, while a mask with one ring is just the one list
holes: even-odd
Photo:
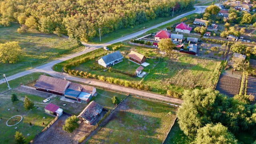
[[15, 63], [19, 60], [22, 54], [22, 49], [19, 42], [6, 42], [0, 44], [0, 62], [2, 63]]

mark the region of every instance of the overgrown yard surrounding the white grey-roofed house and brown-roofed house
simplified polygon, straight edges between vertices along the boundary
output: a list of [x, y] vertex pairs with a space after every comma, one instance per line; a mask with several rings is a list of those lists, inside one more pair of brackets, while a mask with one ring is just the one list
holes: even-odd
[[[112, 47], [119, 44], [120, 43], [108, 47], [112, 50]], [[88, 53], [55, 66], [57, 66], [57, 71], [61, 71], [62, 67], [65, 65], [87, 56], [90, 57], [91, 60], [76, 66], [71, 66], [70, 70], [87, 72], [92, 76], [96, 76], [94, 78], [97, 78], [97, 76], [105, 76], [105, 78], [112, 77], [124, 81], [128, 80], [133, 84], [143, 84], [144, 86], [151, 87], [153, 92], [160, 94], [166, 94], [167, 90], [171, 90], [176, 94], [178, 93], [180, 96], [184, 89], [212, 87], [219, 76], [219, 70], [222, 65], [221, 61], [214, 59], [200, 58], [179, 53], [166, 56], [160, 54], [157, 49], [130, 44], [124, 44], [118, 50], [124, 56], [124, 60], [115, 64], [110, 70], [106, 70], [105, 72], [103, 70], [106, 68], [97, 63], [98, 58], [107, 54], [107, 52], [102, 49], [95, 51], [94, 54]], [[127, 55], [131, 50], [146, 56], [146, 62], [150, 64], [143, 69], [143, 71], [148, 73], [146, 77], [138, 78], [129, 75], [134, 74], [136, 68], [139, 66], [127, 60]], [[95, 57], [92, 58], [92, 56]]]

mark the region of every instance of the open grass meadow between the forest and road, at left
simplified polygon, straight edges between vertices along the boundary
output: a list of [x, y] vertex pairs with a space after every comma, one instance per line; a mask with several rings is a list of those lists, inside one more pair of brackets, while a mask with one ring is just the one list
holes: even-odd
[[55, 34], [33, 31], [18, 34], [18, 28], [17, 23], [11, 24], [10, 27], [0, 27], [0, 43], [18, 41], [25, 52], [15, 64], [0, 64], [0, 73], [7, 76], [84, 49], [84, 46], [78, 46]]

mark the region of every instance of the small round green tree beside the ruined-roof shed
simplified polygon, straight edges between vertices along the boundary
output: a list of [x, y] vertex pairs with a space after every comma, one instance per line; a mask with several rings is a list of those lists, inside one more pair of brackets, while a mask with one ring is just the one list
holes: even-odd
[[74, 132], [76, 128], [79, 128], [79, 124], [77, 123], [79, 119], [76, 116], [70, 116], [66, 119], [65, 124], [62, 126], [62, 130], [66, 132]]

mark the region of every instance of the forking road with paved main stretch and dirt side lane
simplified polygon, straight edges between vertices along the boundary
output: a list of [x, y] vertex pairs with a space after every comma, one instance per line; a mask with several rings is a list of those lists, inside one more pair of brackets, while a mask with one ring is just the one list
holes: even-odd
[[[218, 4], [216, 4], [216, 5], [218, 5]], [[204, 10], [205, 10], [206, 7], [207, 7], [207, 6], [194, 6], [195, 10], [193, 10], [193, 11], [191, 11], [191, 12], [187, 12], [187, 13], [185, 13], [185, 14], [181, 14], [180, 16], [177, 16], [177, 17], [175, 17], [175, 18], [173, 18], [173, 19], [171, 19], [171, 20], [168, 20], [168, 21], [166, 21], [166, 22], [162, 22], [162, 23], [157, 24], [157, 25], [155, 25], [155, 26], [152, 26], [152, 27], [150, 27], [150, 28], [146, 28], [145, 30], [141, 30], [141, 31], [135, 32], [135, 33], [133, 33], [133, 34], [129, 34], [129, 35], [127, 35], [127, 36], [124, 36], [124, 37], [122, 37], [122, 38], [118, 38], [118, 39], [116, 39], [116, 40], [112, 40], [112, 41], [110, 41], [110, 42], [106, 42], [106, 43], [104, 43], [104, 44], [96, 44], [96, 45], [94, 44], [94, 45], [92, 45], [92, 44], [86, 44], [85, 42], [82, 42], [82, 44], [86, 47], [84, 51], [78, 52], [78, 53], [75, 53], [75, 54], [70, 54], [70, 55], [68, 55], [68, 56], [64, 56], [64, 57], [62, 57], [62, 58], [59, 58], [58, 60], [54, 60], [54, 61], [49, 62], [49, 63], [47, 63], [47, 64], [38, 66], [38, 67], [36, 67], [36, 68], [32, 68], [32, 69], [30, 69], [30, 70], [26, 70], [26, 71], [24, 71], [24, 72], [20, 72], [20, 73], [18, 73], [18, 74], [14, 74], [14, 75], [12, 75], [12, 76], [8, 76], [8, 77], [7, 77], [7, 80], [14, 80], [14, 79], [16, 79], [16, 78], [25, 76], [25, 75], [27, 75], [27, 74], [31, 74], [31, 73], [33, 73], [33, 72], [44, 72], [44, 73], [50, 74], [50, 75], [52, 75], [52, 76], [58, 76], [58, 75], [59, 75], [59, 76], [63, 77], [63, 74], [62, 74], [62, 73], [60, 73], [60, 72], [55, 72], [55, 71], [52, 70], [52, 67], [54, 66], [54, 64], [58, 64], [58, 63], [60, 63], [60, 62], [63, 62], [63, 61], [65, 61], [65, 60], [68, 60], [68, 59], [70, 59], [70, 58], [74, 58], [74, 57], [76, 57], [76, 56], [80, 56], [80, 55], [82, 55], [82, 54], [86, 54], [86, 53], [91, 52], [91, 51], [93, 51], [93, 50], [96, 50], [96, 49], [98, 49], [98, 48], [102, 48], [102, 47], [104, 47], [104, 46], [108, 46], [108, 45], [110, 45], [110, 44], [114, 44], [114, 43], [116, 43], [116, 42], [122, 42], [122, 41], [124, 41], [124, 40], [129, 40], [129, 39], [131, 39], [131, 38], [134, 38], [134, 37], [136, 37], [136, 36], [139, 36], [139, 35], [143, 34], [144, 32], [146, 32], [146, 31], [148, 31], [148, 30], [152, 30], [152, 29], [154, 29], [154, 28], [158, 28], [159, 26], [162, 26], [162, 25], [164, 25], [164, 24], [167, 24], [167, 23], [169, 23], [169, 22], [172, 22], [172, 21], [177, 20], [177, 19], [179, 19], [179, 18], [182, 18], [182, 17], [184, 17], [184, 16], [188, 16], [188, 15], [190, 15], [190, 14], [192, 14], [192, 13], [201, 13], [201, 12], [204, 12]], [[68, 37], [66, 36], [66, 38], [68, 38]], [[149, 97], [151, 97], [151, 98], [156, 98], [156, 96], [157, 96], [157, 97], [158, 97], [158, 100], [170, 100], [171, 102], [175, 102], [175, 103], [181, 103], [181, 102], [182, 102], [182, 101], [180, 101], [180, 100], [178, 100], [178, 99], [175, 99], [175, 100], [174, 100], [173, 98], [168, 98], [168, 97], [165, 97], [165, 96], [162, 96], [162, 95], [152, 94], [152, 93], [150, 93], [150, 92], [144, 92], [144, 91], [140, 91], [140, 90], [134, 90], [134, 89], [132, 89], [132, 88], [126, 88], [126, 87], [123, 87], [123, 86], [116, 86], [116, 85], [113, 85], [113, 84], [106, 84], [106, 83], [104, 83], [104, 82], [99, 82], [99, 81], [96, 81], [96, 80], [91, 80], [91, 79], [86, 79], [86, 80], [84, 80], [84, 79], [79, 79], [79, 78], [72, 77], [72, 76], [66, 76], [66, 77], [67, 77], [67, 78], [70, 78], [70, 80], [83, 81], [83, 82], [85, 82], [85, 83], [87, 83], [87, 84], [93, 84], [93, 85], [95, 85], [95, 86], [102, 86], [102, 85], [104, 85], [104, 86], [108, 86], [109, 88], [112, 88], [112, 89], [124, 90], [124, 92], [131, 92], [131, 91], [132, 91], [133, 94], [138, 94], [138, 95], [142, 95], [142, 96], [149, 96]], [[5, 82], [4, 79], [0, 80], [0, 84], [2, 84], [2, 83], [4, 83], [4, 82]]]

